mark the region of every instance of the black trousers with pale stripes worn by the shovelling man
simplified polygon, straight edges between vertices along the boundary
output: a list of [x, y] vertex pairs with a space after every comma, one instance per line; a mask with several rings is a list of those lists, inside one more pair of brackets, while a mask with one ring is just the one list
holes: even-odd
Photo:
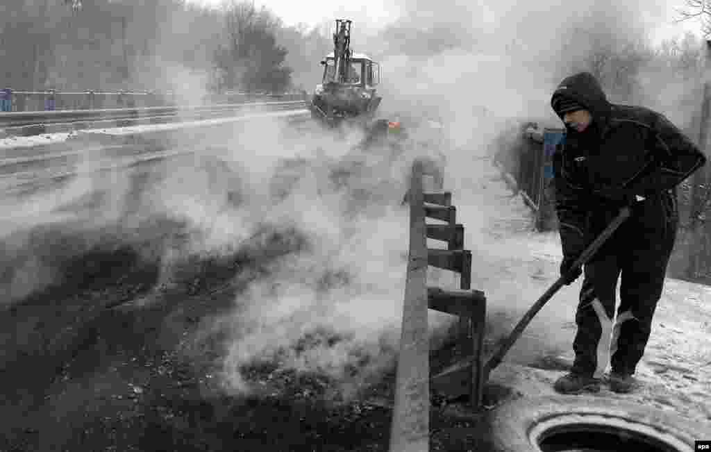
[[[614, 215], [615, 210], [597, 216], [592, 212], [590, 238]], [[677, 227], [674, 193], [652, 195], [634, 205], [631, 217], [585, 265], [572, 372], [601, 377], [609, 362], [613, 372], [634, 374], [662, 294]], [[620, 304], [613, 324], [618, 279]]]

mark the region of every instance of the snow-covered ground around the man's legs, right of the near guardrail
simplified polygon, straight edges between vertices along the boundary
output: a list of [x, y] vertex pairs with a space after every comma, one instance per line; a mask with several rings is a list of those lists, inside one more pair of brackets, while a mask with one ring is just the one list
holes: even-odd
[[[464, 224], [465, 248], [472, 250], [472, 289], [485, 292], [489, 321], [503, 335], [557, 279], [560, 240], [557, 232], [533, 231], [530, 210], [496, 168], [488, 161], [477, 167], [466, 181], [449, 183], [460, 185], [453, 204], [457, 222]], [[528, 395], [552, 394], [552, 382], [572, 364], [580, 284], [582, 279], [564, 286], [542, 308], [493, 380], [515, 384]], [[667, 279], [652, 328], [634, 394], [604, 389], [582, 397], [634, 400], [711, 421], [711, 287]]]

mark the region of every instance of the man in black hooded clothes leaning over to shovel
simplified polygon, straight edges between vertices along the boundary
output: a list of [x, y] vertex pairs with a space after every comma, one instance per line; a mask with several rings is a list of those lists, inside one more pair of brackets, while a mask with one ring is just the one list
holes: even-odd
[[[551, 106], [567, 127], [553, 156], [555, 208], [563, 261], [572, 263], [625, 206], [631, 217], [584, 266], [575, 316], [575, 360], [555, 382], [557, 392], [599, 391], [607, 363], [610, 388], [629, 392], [641, 359], [678, 225], [675, 187], [705, 156], [662, 114], [607, 101], [599, 82], [582, 72], [563, 80]], [[616, 285], [620, 305], [613, 325]]]

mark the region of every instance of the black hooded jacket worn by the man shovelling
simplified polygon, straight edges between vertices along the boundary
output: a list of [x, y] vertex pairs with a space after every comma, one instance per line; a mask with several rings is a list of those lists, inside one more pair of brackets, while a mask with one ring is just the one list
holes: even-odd
[[639, 218], [663, 221], [669, 205], [675, 210], [673, 189], [706, 158], [662, 114], [608, 102], [588, 72], [560, 83], [551, 98], [556, 112], [563, 97], [574, 99], [593, 117], [582, 133], [569, 129], [564, 149], [553, 156], [555, 208], [563, 253], [571, 258], [631, 196], [648, 198], [636, 207]]

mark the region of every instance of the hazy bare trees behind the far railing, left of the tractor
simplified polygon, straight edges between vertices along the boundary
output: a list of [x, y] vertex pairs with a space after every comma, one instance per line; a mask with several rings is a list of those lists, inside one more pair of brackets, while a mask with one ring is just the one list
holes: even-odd
[[247, 1], [14, 0], [0, 80], [15, 90], [244, 90], [316, 83], [330, 38]]

